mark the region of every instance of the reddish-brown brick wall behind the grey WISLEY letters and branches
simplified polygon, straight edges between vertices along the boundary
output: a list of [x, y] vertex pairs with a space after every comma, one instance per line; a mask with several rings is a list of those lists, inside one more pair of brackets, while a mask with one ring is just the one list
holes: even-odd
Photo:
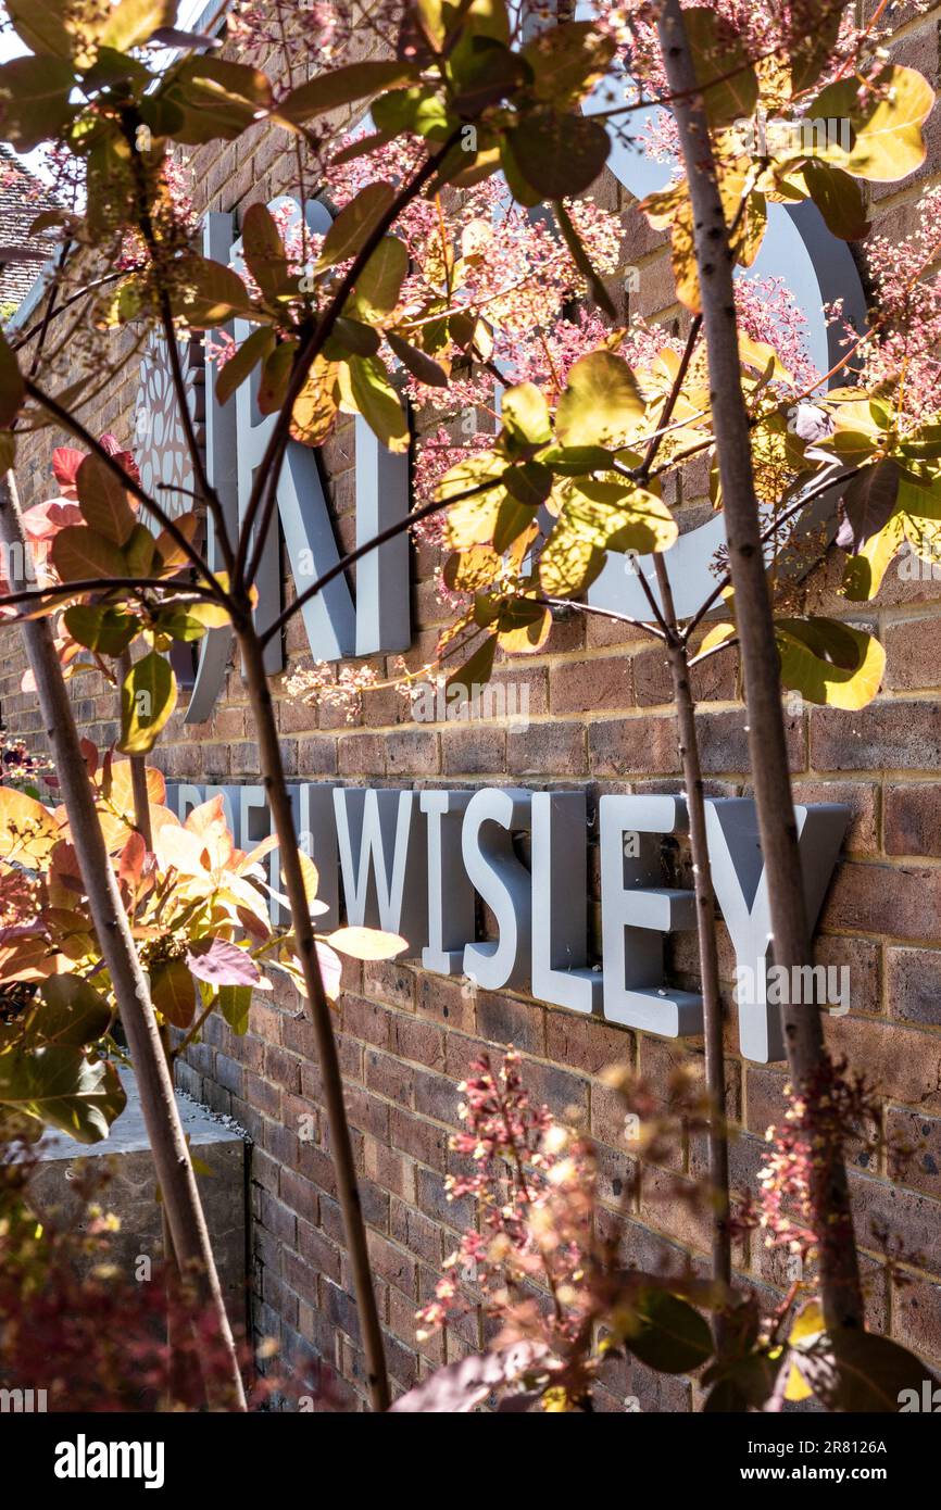
[[[938, 11], [926, 17], [902, 12], [899, 57], [936, 83]], [[929, 125], [929, 162], [905, 184], [876, 186], [872, 217], [881, 233], [903, 234], [914, 225], [912, 204], [929, 183], [941, 180], [938, 133], [941, 109]], [[199, 208], [242, 211], [255, 199], [284, 192], [292, 165], [279, 154], [282, 139], [255, 130], [225, 151], [192, 156]], [[628, 231], [625, 261], [640, 267], [639, 307], [666, 325], [683, 319], [669, 304], [672, 281], [659, 237], [628, 205], [628, 196], [606, 178], [598, 193], [624, 210]], [[101, 414], [98, 429], [130, 438], [136, 394], [131, 361]], [[44, 432], [23, 447], [21, 480], [27, 501], [48, 492], [48, 450], [59, 438]], [[352, 536], [352, 429], [328, 447], [338, 535]], [[687, 518], [701, 518], [696, 500], [704, 476], [684, 479]], [[686, 509], [686, 504], [684, 504]], [[446, 621], [437, 602], [433, 553], [414, 551], [415, 637], [409, 660], [421, 664]], [[865, 1071], [882, 1093], [885, 1129], [918, 1145], [903, 1167], [887, 1169], [858, 1155], [850, 1173], [868, 1309], [881, 1329], [941, 1359], [941, 587], [906, 581], [894, 569], [872, 606], [849, 606], [838, 596], [841, 556], [834, 553], [813, 584], [814, 609], [853, 622], [878, 625], [888, 651], [879, 698], [861, 713], [813, 708], [788, 716], [788, 740], [798, 800], [847, 802], [853, 818], [831, 894], [825, 904], [819, 957], [847, 963], [852, 1006], [828, 1022], [832, 1048]], [[14, 637], [0, 696], [8, 725], [42, 741], [30, 695], [18, 687]], [[298, 619], [288, 633], [292, 667], [304, 664]], [[376, 661], [381, 672], [388, 667]], [[675, 726], [666, 667], [649, 642], [600, 619], [572, 616], [554, 625], [539, 655], [511, 672], [526, 678], [530, 726], [511, 731], [498, 722], [470, 728], [417, 726], [396, 693], [367, 692], [361, 716], [320, 713], [287, 701], [276, 686], [282, 749], [292, 776], [350, 784], [506, 784], [585, 787], [594, 814], [606, 791], [678, 790]], [[699, 731], [711, 794], [748, 794], [745, 711], [736, 698], [734, 667], [711, 660], [698, 673], [702, 699]], [[107, 743], [115, 734], [113, 692], [91, 676], [74, 683], [82, 722]], [[198, 728], [175, 717], [159, 747], [168, 776], [190, 781], [252, 779], [258, 752], [246, 719], [246, 699], [231, 670], [216, 716]], [[592, 853], [597, 862], [597, 855]], [[678, 856], [683, 873], [686, 861]], [[589, 874], [597, 876], [597, 864]], [[597, 882], [592, 882], [597, 888]], [[598, 932], [597, 889], [592, 908]], [[597, 938], [595, 938], [597, 942]], [[733, 954], [720, 930], [727, 989]], [[677, 936], [671, 974], [695, 986], [695, 941]], [[731, 989], [730, 989], [731, 1001]], [[659, 1084], [680, 1059], [702, 1063], [702, 1045], [669, 1042], [619, 1030], [562, 1009], [545, 1007], [515, 992], [486, 994], [461, 982], [423, 972], [414, 960], [347, 965], [337, 1010], [340, 1057], [347, 1083], [363, 1200], [376, 1265], [381, 1315], [387, 1329], [396, 1386], [409, 1385], [432, 1364], [480, 1345], [476, 1318], [459, 1323], [446, 1339], [418, 1345], [415, 1306], [430, 1296], [443, 1256], [468, 1220], [462, 1202], [449, 1205], [443, 1181], [453, 1167], [449, 1134], [456, 1126], [458, 1083], [482, 1049], [515, 1043], [532, 1092], [562, 1111], [574, 1107], [598, 1142], [606, 1220], [615, 1223], [625, 1178], [622, 1110], [601, 1083], [612, 1062], [627, 1062]], [[766, 1126], [781, 1114], [785, 1080], [778, 1065], [745, 1063], [737, 1052], [734, 1007], [728, 1006], [730, 1116], [740, 1136], [733, 1148], [739, 1190], [754, 1181]], [[249, 1131], [254, 1315], [260, 1333], [279, 1336], [288, 1359], [311, 1365], [329, 1361], [346, 1403], [363, 1400], [363, 1357], [349, 1265], [343, 1250], [340, 1210], [320, 1108], [320, 1084], [310, 1022], [292, 991], [252, 1009], [243, 1039], [211, 1018], [204, 1042], [181, 1066], [181, 1081], [211, 1107], [236, 1116]], [[301, 1120], [313, 1114], [316, 1139], [302, 1140]], [[642, 1170], [639, 1200], [622, 1223], [625, 1256], [645, 1267], [680, 1265], [692, 1253], [704, 1262], [707, 1234], [701, 1219], [677, 1197], [677, 1179], [702, 1173], [698, 1140], [677, 1151], [669, 1169]], [[890, 1274], [873, 1228], [885, 1226], [920, 1265]], [[781, 1258], [758, 1238], [737, 1250], [739, 1273], [769, 1302], [781, 1293]], [[902, 1282], [902, 1279], [905, 1282]], [[618, 1365], [600, 1406], [619, 1409], [639, 1395], [645, 1409], [686, 1410], [689, 1382], [654, 1376], [640, 1365]]]

